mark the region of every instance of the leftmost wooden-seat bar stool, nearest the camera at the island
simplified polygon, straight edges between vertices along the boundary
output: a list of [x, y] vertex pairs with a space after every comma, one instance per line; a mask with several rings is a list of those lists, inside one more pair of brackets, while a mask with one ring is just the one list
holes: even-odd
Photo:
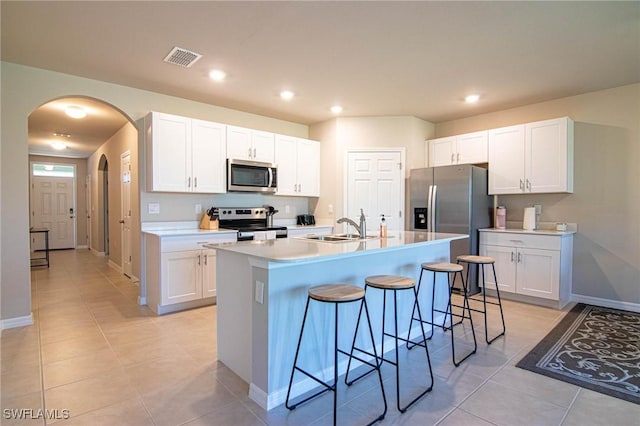
[[[289, 410], [293, 410], [295, 409], [298, 405], [303, 404], [307, 401], [309, 401], [310, 399], [315, 398], [316, 396], [319, 396], [327, 391], [332, 391], [333, 392], [333, 424], [336, 424], [337, 421], [337, 401], [338, 401], [338, 396], [337, 396], [337, 384], [338, 384], [338, 352], [349, 356], [349, 364], [351, 364], [351, 358], [356, 358], [358, 361], [361, 361], [367, 365], [369, 365], [370, 367], [372, 367], [372, 370], [377, 370], [378, 371], [378, 379], [380, 381], [380, 390], [382, 392], [382, 399], [384, 401], [384, 411], [382, 412], [382, 414], [380, 414], [378, 417], [376, 417], [373, 421], [371, 421], [369, 423], [369, 425], [372, 425], [373, 423], [380, 421], [382, 419], [384, 419], [384, 416], [387, 414], [387, 397], [384, 393], [384, 386], [382, 384], [382, 374], [380, 373], [380, 364], [378, 364], [378, 362], [375, 363], [371, 363], [367, 360], [355, 357], [352, 355], [352, 353], [349, 352], [345, 352], [343, 350], [341, 350], [338, 347], [338, 305], [341, 303], [351, 303], [351, 302], [360, 302], [360, 314], [362, 314], [362, 310], [364, 309], [364, 312], [366, 313], [366, 318], [367, 318], [367, 325], [369, 326], [369, 335], [371, 337], [371, 345], [373, 346], [373, 356], [375, 357], [374, 359], [377, 360], [378, 356], [376, 353], [376, 344], [375, 344], [375, 340], [373, 338], [373, 329], [371, 328], [371, 320], [369, 318], [369, 309], [367, 308], [367, 301], [365, 300], [365, 290], [361, 287], [355, 286], [355, 285], [349, 285], [349, 284], [325, 284], [325, 285], [320, 285], [320, 286], [316, 286], [316, 287], [311, 287], [309, 289], [309, 293], [307, 296], [307, 304], [305, 306], [304, 309], [304, 317], [302, 319], [302, 327], [300, 329], [300, 337], [298, 339], [298, 347], [296, 348], [296, 356], [294, 358], [293, 361], [293, 368], [291, 369], [291, 378], [289, 379], [289, 389], [287, 390], [287, 399], [285, 402], [285, 406], [289, 409]], [[311, 302], [311, 300], [315, 300], [318, 302], [322, 302], [322, 303], [333, 303], [334, 307], [335, 307], [335, 329], [334, 329], [334, 353], [333, 353], [333, 384], [330, 385], [322, 380], [320, 380], [319, 378], [317, 378], [316, 376], [314, 376], [313, 374], [305, 371], [304, 369], [298, 367], [298, 355], [300, 354], [300, 343], [302, 342], [302, 334], [304, 332], [304, 326], [305, 323], [307, 321], [307, 313], [309, 312], [309, 302]], [[355, 342], [355, 337], [358, 334], [358, 327], [360, 325], [360, 315], [358, 316], [358, 322], [356, 325], [356, 330], [354, 333], [354, 342]], [[351, 350], [351, 352], [353, 352], [353, 349]], [[293, 384], [293, 377], [296, 371], [301, 372], [302, 374], [310, 377], [311, 379], [315, 380], [316, 382], [318, 382], [321, 386], [322, 389], [316, 393], [314, 393], [313, 395], [304, 398], [302, 401], [298, 401], [295, 404], [291, 404], [290, 403], [290, 396], [291, 396], [291, 386]], [[348, 372], [348, 371], [347, 371]]]

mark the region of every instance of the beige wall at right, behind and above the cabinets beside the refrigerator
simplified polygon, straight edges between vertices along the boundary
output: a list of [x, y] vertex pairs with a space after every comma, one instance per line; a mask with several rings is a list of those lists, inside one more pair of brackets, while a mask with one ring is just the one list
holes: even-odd
[[500, 196], [507, 220], [542, 204], [542, 221], [576, 222], [573, 292], [640, 304], [640, 84], [439, 123], [436, 136], [554, 117], [575, 121], [574, 193]]

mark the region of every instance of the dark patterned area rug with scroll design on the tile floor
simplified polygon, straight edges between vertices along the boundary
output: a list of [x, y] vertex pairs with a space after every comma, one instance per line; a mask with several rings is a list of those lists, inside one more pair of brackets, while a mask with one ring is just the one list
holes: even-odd
[[516, 366], [640, 404], [640, 314], [580, 303]]

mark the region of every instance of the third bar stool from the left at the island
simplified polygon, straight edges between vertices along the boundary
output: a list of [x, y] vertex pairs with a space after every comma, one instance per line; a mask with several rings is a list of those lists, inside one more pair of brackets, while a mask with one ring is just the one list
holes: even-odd
[[[432, 326], [431, 334], [429, 335], [429, 337], [427, 337], [427, 340], [433, 337], [433, 326], [440, 327], [444, 331], [447, 331], [448, 329], [450, 329], [451, 330], [451, 358], [453, 360], [453, 365], [457, 367], [462, 363], [462, 361], [469, 358], [471, 355], [475, 354], [476, 350], [478, 349], [478, 342], [476, 341], [476, 332], [473, 329], [473, 319], [471, 318], [471, 308], [469, 306], [469, 300], [467, 299], [468, 297], [467, 286], [464, 281], [464, 277], [462, 276], [462, 271], [464, 268], [462, 267], [462, 265], [459, 265], [457, 263], [423, 263], [420, 266], [421, 266], [421, 269], [420, 269], [420, 279], [418, 280], [418, 293], [420, 292], [420, 287], [422, 284], [422, 274], [424, 273], [424, 271], [429, 271], [433, 273], [433, 284], [431, 286], [431, 321], [423, 321], [425, 324], [430, 324]], [[449, 288], [447, 289], [448, 301], [447, 301], [446, 311], [443, 311], [441, 309], [436, 309], [435, 307], [436, 275], [438, 273], [447, 274], [447, 283]], [[452, 279], [452, 275], [453, 275], [453, 279]], [[451, 302], [451, 296], [453, 294], [453, 285], [455, 284], [455, 279], [457, 276], [460, 276], [460, 280], [462, 281], [462, 294], [463, 294], [462, 306], [456, 305]], [[414, 320], [419, 321], [419, 319], [415, 317], [417, 307], [418, 307], [418, 300], [416, 299], [416, 303], [413, 306], [413, 313], [411, 314], [411, 323], [409, 324], [409, 333], [411, 333], [411, 327], [413, 326], [413, 321]], [[453, 308], [461, 308], [462, 314], [454, 313]], [[465, 309], [466, 309], [466, 312], [468, 312], [469, 314], [468, 316], [465, 314]], [[434, 322], [434, 316], [433, 316], [434, 312], [439, 312], [444, 314], [444, 320], [442, 321], [442, 325], [436, 324]], [[445, 325], [447, 322], [447, 315], [449, 315], [449, 327]], [[460, 318], [460, 321], [454, 322], [453, 317]], [[462, 324], [465, 319], [468, 319], [469, 324], [471, 325], [471, 334], [473, 336], [473, 350], [467, 353], [459, 361], [456, 361], [456, 345], [455, 345], [453, 330], [454, 330], [454, 326]], [[407, 343], [407, 349], [412, 349], [413, 346], [415, 346], [414, 342]]]

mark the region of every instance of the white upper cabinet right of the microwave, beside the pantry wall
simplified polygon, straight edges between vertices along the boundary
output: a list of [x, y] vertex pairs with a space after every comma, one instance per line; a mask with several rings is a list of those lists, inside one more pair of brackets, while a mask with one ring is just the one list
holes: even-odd
[[278, 166], [276, 195], [320, 196], [320, 143], [292, 136], [276, 135]]

